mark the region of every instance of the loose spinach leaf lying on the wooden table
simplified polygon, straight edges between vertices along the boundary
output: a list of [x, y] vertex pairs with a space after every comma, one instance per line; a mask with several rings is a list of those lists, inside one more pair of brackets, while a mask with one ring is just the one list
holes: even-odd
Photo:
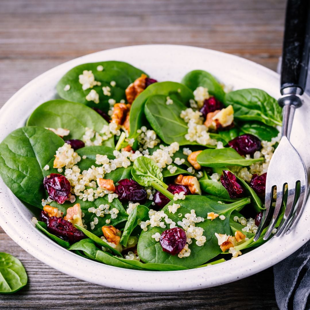
[[20, 260], [11, 254], [0, 252], [0, 294], [15, 293], [27, 281], [27, 273]]

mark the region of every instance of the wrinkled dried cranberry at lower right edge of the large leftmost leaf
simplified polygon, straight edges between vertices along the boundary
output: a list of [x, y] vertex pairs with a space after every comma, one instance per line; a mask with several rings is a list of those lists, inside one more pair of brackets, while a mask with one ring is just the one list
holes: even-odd
[[63, 204], [70, 197], [71, 185], [64, 175], [51, 173], [43, 180], [48, 196], [54, 201]]

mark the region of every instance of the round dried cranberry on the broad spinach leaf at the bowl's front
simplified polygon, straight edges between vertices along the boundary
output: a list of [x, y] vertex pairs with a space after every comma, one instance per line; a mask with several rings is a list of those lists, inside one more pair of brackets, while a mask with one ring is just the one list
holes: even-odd
[[164, 252], [175, 255], [183, 250], [186, 244], [186, 233], [179, 227], [167, 229], [162, 232], [159, 242]]

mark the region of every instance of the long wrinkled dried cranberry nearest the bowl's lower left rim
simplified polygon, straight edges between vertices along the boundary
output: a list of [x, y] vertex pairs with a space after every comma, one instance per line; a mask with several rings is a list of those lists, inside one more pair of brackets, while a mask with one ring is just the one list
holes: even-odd
[[60, 239], [70, 243], [78, 242], [86, 237], [84, 233], [75, 228], [72, 223], [56, 216], [47, 219], [47, 230]]

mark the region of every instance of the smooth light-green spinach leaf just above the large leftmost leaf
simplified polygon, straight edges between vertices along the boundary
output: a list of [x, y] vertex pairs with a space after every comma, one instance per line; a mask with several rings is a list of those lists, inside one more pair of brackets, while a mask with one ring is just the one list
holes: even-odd
[[[69, 129], [70, 134], [65, 139], [80, 140], [86, 127], [100, 132], [104, 125], [108, 125], [108, 122], [93, 109], [85, 104], [66, 100], [51, 100], [41, 104], [27, 121], [27, 126]], [[103, 144], [114, 148], [114, 138]]]

